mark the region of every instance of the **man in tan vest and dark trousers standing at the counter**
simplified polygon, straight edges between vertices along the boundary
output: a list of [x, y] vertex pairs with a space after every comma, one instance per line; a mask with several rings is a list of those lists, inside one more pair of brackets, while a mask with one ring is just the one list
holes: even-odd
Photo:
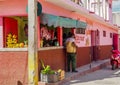
[[[77, 45], [75, 43], [75, 35], [69, 32], [68, 38], [66, 40], [67, 71], [68, 72], [70, 72], [71, 70], [72, 72], [78, 72], [76, 70], [76, 48], [77, 48]], [[70, 67], [72, 69], [70, 69]]]

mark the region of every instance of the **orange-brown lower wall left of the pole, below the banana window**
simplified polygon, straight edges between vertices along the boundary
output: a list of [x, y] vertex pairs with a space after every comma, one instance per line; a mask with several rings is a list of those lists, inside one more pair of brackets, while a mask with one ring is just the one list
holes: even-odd
[[28, 85], [27, 63], [27, 52], [0, 52], [0, 85]]

